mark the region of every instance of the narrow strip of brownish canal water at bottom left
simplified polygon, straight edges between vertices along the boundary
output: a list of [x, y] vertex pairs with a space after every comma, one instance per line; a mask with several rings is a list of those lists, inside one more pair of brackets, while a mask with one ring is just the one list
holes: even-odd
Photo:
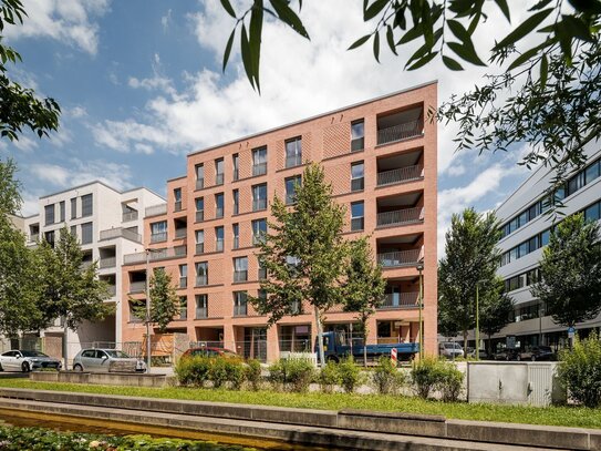
[[246, 450], [299, 450], [335, 451], [333, 448], [303, 447], [269, 439], [253, 439], [242, 435], [225, 435], [201, 431], [176, 430], [173, 428], [148, 427], [137, 423], [110, 422], [80, 417], [52, 416], [30, 411], [0, 409], [0, 427], [44, 428], [61, 432], [85, 432], [103, 435], [151, 435], [153, 438], [177, 438], [215, 443], [215, 451], [232, 451], [245, 447]]

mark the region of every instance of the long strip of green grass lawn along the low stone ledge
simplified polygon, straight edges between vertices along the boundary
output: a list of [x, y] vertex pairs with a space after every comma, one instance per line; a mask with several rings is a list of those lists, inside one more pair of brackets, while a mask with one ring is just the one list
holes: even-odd
[[234, 391], [183, 387], [141, 388], [84, 386], [77, 383], [32, 382], [27, 379], [0, 379], [0, 387], [38, 390], [76, 391], [131, 397], [185, 399], [193, 401], [232, 402], [305, 409], [363, 409], [412, 413], [442, 414], [446, 418], [478, 421], [566, 426], [601, 429], [601, 409], [583, 407], [518, 407], [442, 402], [401, 396], [346, 394], [319, 392], [281, 393], [274, 391]]

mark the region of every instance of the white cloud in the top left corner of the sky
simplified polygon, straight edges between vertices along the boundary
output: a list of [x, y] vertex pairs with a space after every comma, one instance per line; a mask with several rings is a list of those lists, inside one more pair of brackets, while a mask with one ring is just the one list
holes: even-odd
[[99, 24], [95, 18], [108, 10], [108, 0], [29, 0], [22, 25], [7, 27], [9, 39], [51, 38], [96, 54]]

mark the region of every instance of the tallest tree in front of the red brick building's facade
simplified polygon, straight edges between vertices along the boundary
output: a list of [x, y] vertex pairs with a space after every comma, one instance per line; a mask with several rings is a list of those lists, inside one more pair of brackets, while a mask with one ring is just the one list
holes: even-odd
[[[344, 300], [344, 207], [332, 199], [323, 168], [315, 163], [304, 170], [290, 209], [276, 196], [271, 204], [274, 222], [269, 223], [270, 232], [258, 254], [269, 276], [261, 280], [267, 296], [249, 297], [259, 314], [269, 317], [268, 326], [286, 315], [300, 314], [307, 301], [313, 307], [321, 344], [325, 311]], [[324, 363], [323, 346], [320, 361]]]

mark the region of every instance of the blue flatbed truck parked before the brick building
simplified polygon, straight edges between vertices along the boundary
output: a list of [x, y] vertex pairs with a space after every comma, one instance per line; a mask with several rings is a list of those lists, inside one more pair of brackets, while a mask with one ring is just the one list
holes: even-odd
[[[355, 360], [363, 359], [363, 340], [346, 338], [344, 332], [323, 332], [323, 355], [327, 361], [339, 362], [340, 359], [353, 356]], [[375, 361], [381, 356], [390, 356], [391, 350], [396, 349], [398, 361], [411, 361], [419, 352], [419, 344], [397, 342], [386, 345], [367, 345], [367, 360]], [[319, 337], [315, 338], [314, 351], [319, 356]]]

